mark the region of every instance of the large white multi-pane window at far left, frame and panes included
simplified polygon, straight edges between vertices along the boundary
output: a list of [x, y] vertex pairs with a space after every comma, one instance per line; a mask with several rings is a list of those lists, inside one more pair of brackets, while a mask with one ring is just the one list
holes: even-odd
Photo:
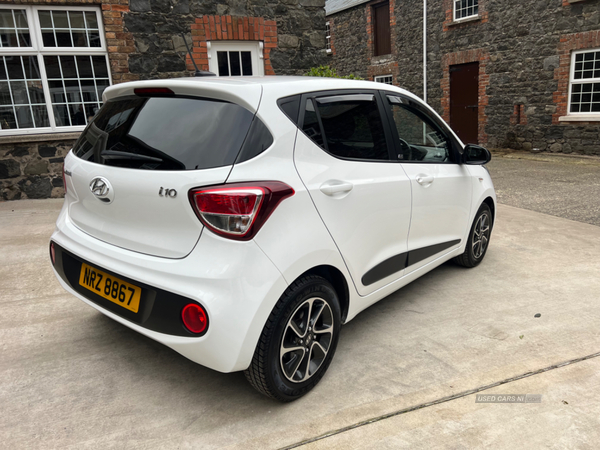
[[0, 136], [82, 130], [110, 84], [99, 8], [0, 5]]

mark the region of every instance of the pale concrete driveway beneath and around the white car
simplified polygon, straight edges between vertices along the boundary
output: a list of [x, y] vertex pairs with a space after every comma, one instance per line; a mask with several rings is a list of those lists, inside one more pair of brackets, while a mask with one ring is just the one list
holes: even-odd
[[478, 268], [445, 264], [361, 313], [317, 388], [279, 404], [64, 292], [47, 250], [61, 204], [0, 203], [2, 448], [597, 446], [596, 226], [500, 205]]

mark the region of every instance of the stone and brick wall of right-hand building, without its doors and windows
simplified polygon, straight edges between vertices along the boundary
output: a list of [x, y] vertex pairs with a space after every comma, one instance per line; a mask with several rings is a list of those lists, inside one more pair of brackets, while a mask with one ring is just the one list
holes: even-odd
[[[374, 3], [327, 16], [335, 24], [330, 64], [341, 75], [373, 79], [379, 74], [378, 59], [356, 48], [357, 40], [370, 41], [364, 19]], [[422, 4], [391, 3], [396, 35], [390, 57], [398, 66], [386, 70], [394, 84], [422, 96]], [[600, 114], [588, 122], [565, 117], [571, 52], [600, 48], [600, 0], [480, 0], [479, 5], [478, 18], [458, 24], [452, 21], [451, 0], [428, 1], [428, 102], [448, 120], [449, 65], [479, 61], [480, 143], [600, 155]]]

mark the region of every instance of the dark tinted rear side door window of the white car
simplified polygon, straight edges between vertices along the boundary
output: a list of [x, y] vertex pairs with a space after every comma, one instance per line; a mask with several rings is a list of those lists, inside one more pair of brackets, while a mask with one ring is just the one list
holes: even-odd
[[338, 158], [390, 159], [380, 110], [373, 94], [309, 98], [302, 129], [315, 144]]

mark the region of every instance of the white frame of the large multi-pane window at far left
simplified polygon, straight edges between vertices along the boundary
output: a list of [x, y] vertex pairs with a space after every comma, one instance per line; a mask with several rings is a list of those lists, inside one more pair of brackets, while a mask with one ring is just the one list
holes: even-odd
[[[43, 128], [22, 128], [22, 129], [1, 129], [0, 136], [16, 136], [27, 134], [43, 134], [43, 133], [70, 133], [82, 131], [85, 125], [76, 125], [68, 127], [57, 127], [54, 113], [52, 111], [52, 98], [50, 96], [50, 87], [48, 84], [48, 76], [46, 75], [46, 66], [44, 64], [44, 56], [68, 56], [68, 55], [90, 55], [90, 56], [107, 56], [106, 38], [104, 34], [104, 24], [102, 22], [102, 12], [99, 7], [90, 6], [26, 6], [23, 4], [2, 4], [0, 9], [24, 9], [27, 15], [29, 24], [29, 36], [31, 39], [31, 47], [2, 47], [0, 48], [0, 56], [37, 56], [38, 67], [42, 78], [42, 87], [44, 98], [46, 100], [46, 108], [48, 110], [49, 127]], [[42, 28], [39, 21], [37, 11], [87, 11], [95, 12], [98, 21], [98, 32], [100, 34], [100, 47], [43, 47]], [[108, 71], [108, 83], [112, 86], [112, 74], [110, 64], [106, 58], [106, 69]], [[99, 99], [101, 103], [101, 99]]]

